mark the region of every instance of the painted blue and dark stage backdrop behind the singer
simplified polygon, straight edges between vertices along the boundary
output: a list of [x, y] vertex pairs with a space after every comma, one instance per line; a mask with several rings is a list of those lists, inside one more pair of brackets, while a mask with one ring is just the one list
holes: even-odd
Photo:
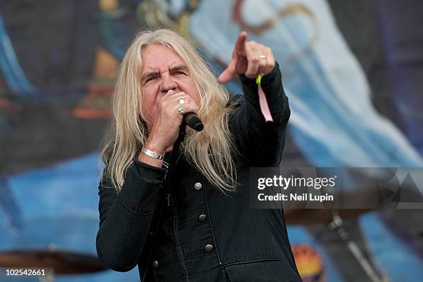
[[[96, 256], [98, 147], [120, 61], [147, 26], [194, 41], [216, 75], [241, 30], [272, 48], [292, 111], [281, 166], [423, 166], [420, 0], [0, 1], [0, 253]], [[422, 218], [364, 213], [345, 240], [287, 214], [299, 272], [320, 282], [423, 281]]]

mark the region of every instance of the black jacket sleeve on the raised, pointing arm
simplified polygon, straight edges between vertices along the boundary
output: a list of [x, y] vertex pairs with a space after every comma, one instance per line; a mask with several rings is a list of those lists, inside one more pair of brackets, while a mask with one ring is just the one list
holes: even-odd
[[273, 122], [265, 122], [261, 113], [259, 90], [255, 79], [239, 76], [243, 100], [238, 104], [229, 124], [236, 138], [241, 162], [250, 167], [278, 166], [281, 161], [285, 133], [290, 118], [288, 97], [283, 91], [279, 64], [261, 79]]

